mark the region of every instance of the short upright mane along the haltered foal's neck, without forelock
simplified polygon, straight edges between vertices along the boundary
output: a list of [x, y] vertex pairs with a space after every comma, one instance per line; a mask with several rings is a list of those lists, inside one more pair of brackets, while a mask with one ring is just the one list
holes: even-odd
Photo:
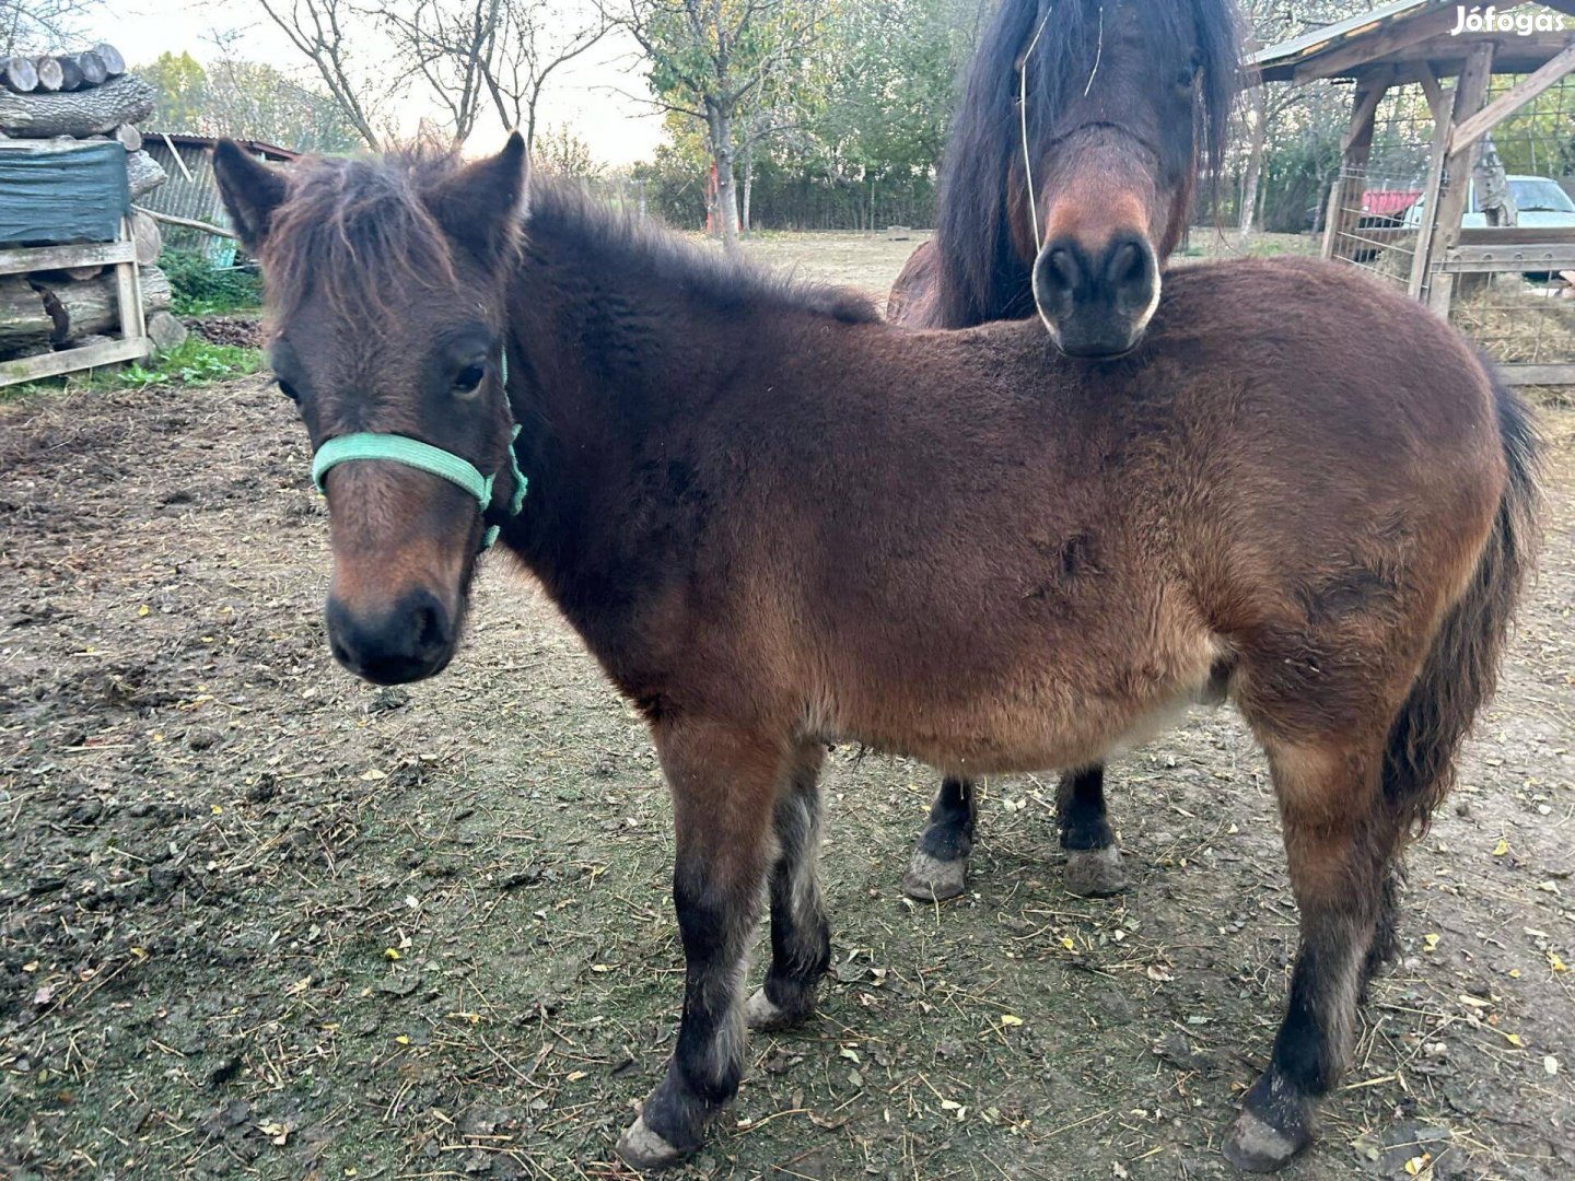
[[728, 258], [669, 230], [603, 205], [583, 186], [556, 178], [531, 181], [531, 239], [551, 239], [584, 272], [617, 268], [638, 274], [658, 291], [704, 299], [718, 309], [765, 307], [827, 315], [843, 323], [874, 323], [880, 312], [869, 296], [847, 287], [808, 282], [791, 274]]

